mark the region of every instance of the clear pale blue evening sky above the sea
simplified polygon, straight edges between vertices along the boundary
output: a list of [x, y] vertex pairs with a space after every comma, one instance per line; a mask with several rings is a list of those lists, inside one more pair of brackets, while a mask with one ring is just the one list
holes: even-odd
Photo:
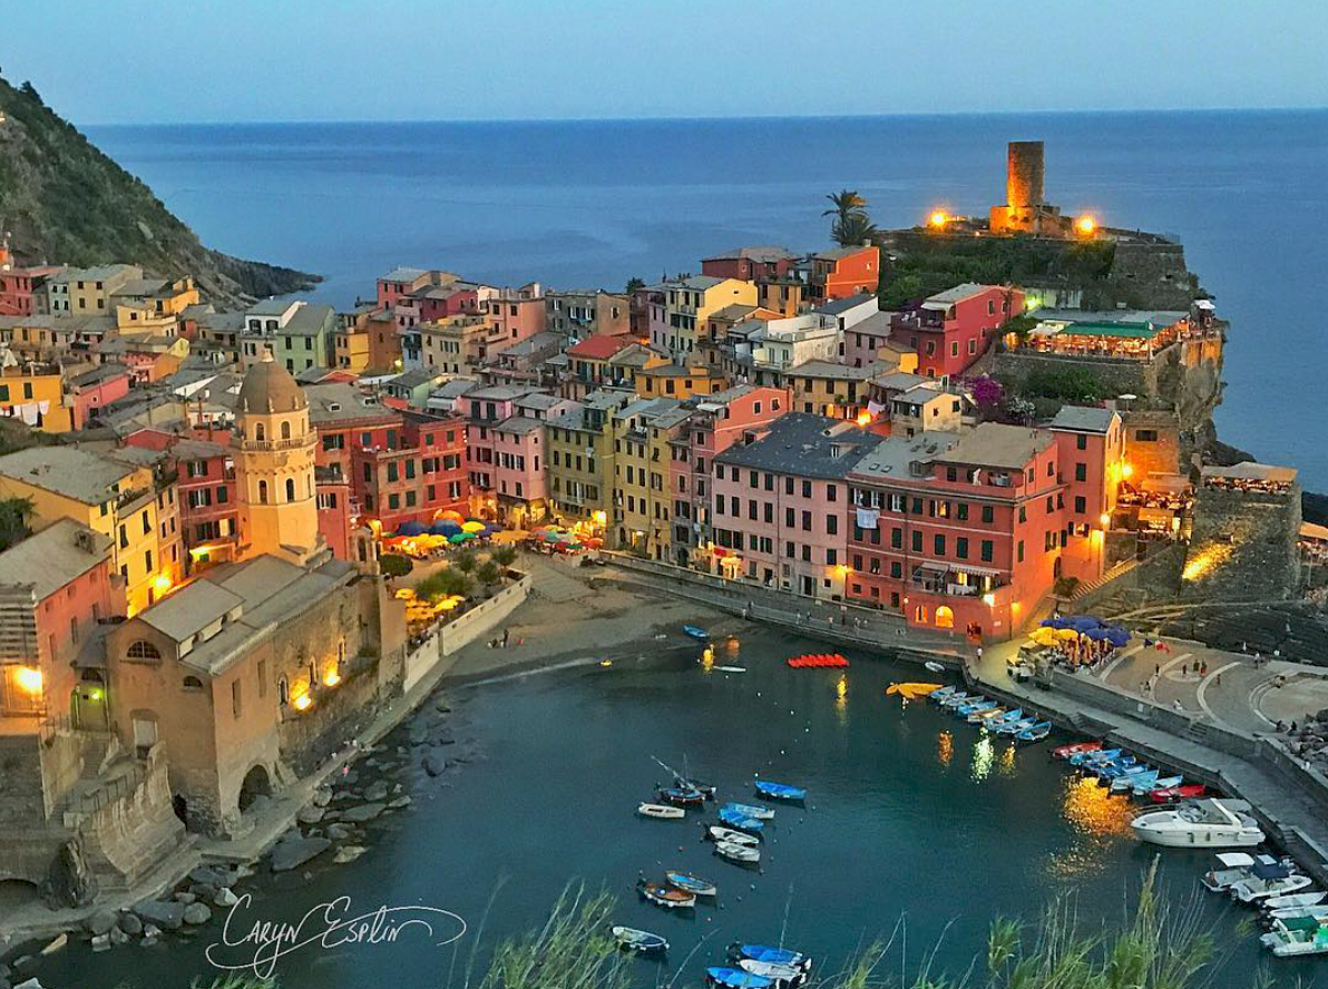
[[61, 0], [0, 73], [77, 123], [1328, 105], [1319, 0]]

